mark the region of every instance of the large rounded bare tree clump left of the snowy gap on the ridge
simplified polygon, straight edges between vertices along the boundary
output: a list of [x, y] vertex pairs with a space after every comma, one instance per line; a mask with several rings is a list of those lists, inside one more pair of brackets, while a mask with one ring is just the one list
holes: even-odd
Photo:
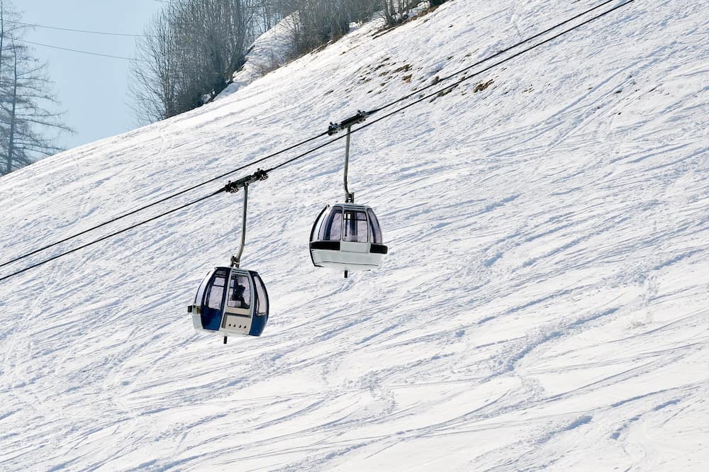
[[258, 1], [175, 0], [152, 18], [133, 65], [138, 119], [169, 118], [222, 91], [255, 37]]

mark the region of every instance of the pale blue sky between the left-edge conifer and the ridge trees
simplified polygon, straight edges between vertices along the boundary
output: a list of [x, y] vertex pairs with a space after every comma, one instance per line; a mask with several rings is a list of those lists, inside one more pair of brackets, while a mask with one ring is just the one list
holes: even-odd
[[[156, 0], [11, 0], [24, 23], [78, 30], [142, 34], [163, 3]], [[136, 38], [70, 33], [34, 28], [26, 39], [58, 47], [133, 57]], [[67, 113], [65, 122], [77, 131], [60, 144], [69, 148], [136, 128], [130, 111], [130, 62], [32, 46], [33, 55], [48, 62], [54, 92]]]

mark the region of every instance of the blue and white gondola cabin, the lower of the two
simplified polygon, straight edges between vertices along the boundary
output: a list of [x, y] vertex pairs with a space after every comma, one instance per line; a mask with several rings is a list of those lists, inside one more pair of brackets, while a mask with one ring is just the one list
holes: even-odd
[[260, 336], [268, 322], [266, 286], [255, 271], [216, 267], [187, 307], [198, 331], [223, 336]]

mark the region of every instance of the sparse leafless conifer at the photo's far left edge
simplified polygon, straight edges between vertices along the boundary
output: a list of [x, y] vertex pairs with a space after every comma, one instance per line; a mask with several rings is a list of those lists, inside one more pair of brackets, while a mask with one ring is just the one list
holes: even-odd
[[[9, 174], [62, 149], [46, 136], [71, 130], [50, 111], [57, 101], [47, 90], [45, 64], [30, 56], [21, 43], [23, 28], [9, 20], [7, 3], [0, 0], [0, 174]], [[16, 18], [16, 15], [10, 15]]]

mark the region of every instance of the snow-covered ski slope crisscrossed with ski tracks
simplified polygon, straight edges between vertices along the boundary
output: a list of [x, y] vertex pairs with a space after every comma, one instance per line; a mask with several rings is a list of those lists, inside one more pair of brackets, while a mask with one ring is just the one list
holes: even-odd
[[[452, 0], [45, 159], [0, 180], [0, 259], [590, 5]], [[240, 195], [1, 283], [0, 469], [705, 470], [708, 22], [702, 2], [637, 0], [357, 133], [350, 189], [384, 227], [379, 271], [311, 266], [341, 146], [252, 186], [242, 264], [272, 298], [262, 338], [224, 346], [186, 313], [238, 245]]]

